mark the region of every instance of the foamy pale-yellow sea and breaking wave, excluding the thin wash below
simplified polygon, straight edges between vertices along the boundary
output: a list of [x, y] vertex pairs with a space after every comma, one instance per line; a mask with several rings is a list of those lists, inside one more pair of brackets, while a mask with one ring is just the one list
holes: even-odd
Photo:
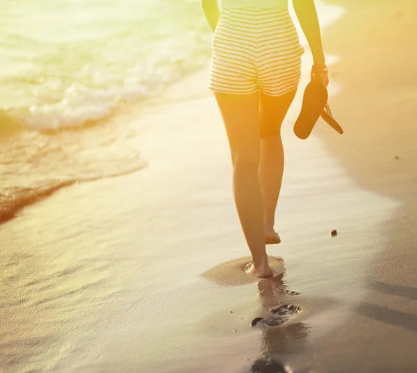
[[80, 126], [152, 97], [210, 54], [199, 1], [0, 0], [3, 115]]

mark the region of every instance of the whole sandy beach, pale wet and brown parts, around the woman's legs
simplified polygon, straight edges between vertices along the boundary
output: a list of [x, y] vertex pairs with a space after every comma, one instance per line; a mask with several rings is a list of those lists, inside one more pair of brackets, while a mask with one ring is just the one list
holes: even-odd
[[[0, 225], [1, 373], [417, 369], [417, 6], [327, 6], [343, 9], [323, 42], [345, 133], [320, 121], [308, 140], [293, 134], [306, 51], [282, 132], [282, 242], [268, 247], [282, 276], [242, 270], [227, 138], [202, 69], [69, 135], [108, 150], [100, 133], [117, 128], [123, 141], [98, 171], [97, 153], [81, 158], [97, 180], [72, 178]], [[133, 156], [106, 168], [119, 149]]]

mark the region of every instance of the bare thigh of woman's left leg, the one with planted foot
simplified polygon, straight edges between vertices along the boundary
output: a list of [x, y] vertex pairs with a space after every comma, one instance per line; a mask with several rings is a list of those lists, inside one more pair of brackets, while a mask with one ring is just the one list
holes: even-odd
[[229, 139], [231, 159], [259, 163], [259, 93], [215, 92]]

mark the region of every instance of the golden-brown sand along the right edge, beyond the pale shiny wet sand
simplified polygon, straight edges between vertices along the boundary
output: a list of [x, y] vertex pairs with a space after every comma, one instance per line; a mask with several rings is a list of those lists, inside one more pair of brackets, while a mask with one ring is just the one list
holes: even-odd
[[[329, 1], [350, 10], [325, 35], [341, 56], [332, 75], [343, 92], [332, 108], [343, 141], [326, 147], [361, 188], [400, 206], [369, 249], [366, 299], [349, 322], [313, 347], [322, 372], [417, 370], [417, 73], [414, 1]], [[332, 348], [329, 348], [332, 346]]]

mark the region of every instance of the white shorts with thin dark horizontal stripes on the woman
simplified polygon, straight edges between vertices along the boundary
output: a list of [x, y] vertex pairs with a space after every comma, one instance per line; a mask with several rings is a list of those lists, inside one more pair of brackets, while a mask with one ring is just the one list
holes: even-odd
[[280, 96], [297, 88], [304, 49], [288, 9], [222, 9], [208, 88]]

